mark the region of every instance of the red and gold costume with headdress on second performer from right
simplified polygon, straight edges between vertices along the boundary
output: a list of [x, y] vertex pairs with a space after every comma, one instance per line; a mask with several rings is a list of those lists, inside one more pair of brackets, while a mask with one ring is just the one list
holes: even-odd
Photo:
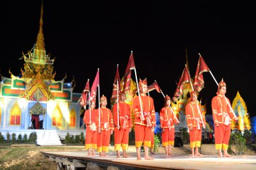
[[[192, 96], [196, 96], [195, 92], [193, 91], [190, 93], [191, 99]], [[195, 102], [190, 101], [187, 104], [186, 118], [189, 129], [191, 127], [193, 128], [192, 131], [189, 131], [190, 148], [201, 147], [202, 124], [205, 125], [205, 117], [202, 115], [202, 110], [197, 100]]]

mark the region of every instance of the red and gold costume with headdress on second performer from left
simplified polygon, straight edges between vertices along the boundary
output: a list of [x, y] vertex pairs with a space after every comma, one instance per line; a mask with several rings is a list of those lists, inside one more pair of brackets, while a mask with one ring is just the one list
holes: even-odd
[[[105, 96], [100, 97], [100, 101], [107, 100]], [[97, 109], [99, 115], [99, 108]], [[97, 120], [99, 122], [99, 118]], [[108, 152], [110, 142], [110, 131], [114, 130], [113, 115], [108, 108], [100, 107], [100, 132], [97, 132], [97, 152]]]

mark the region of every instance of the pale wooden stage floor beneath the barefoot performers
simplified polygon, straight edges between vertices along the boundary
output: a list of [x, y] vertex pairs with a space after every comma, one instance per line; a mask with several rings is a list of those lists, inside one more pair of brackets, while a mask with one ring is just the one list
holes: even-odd
[[[232, 170], [249, 170], [256, 169], [256, 155], [235, 155], [230, 158], [218, 158], [218, 155], [204, 155], [202, 157], [190, 157], [190, 155], [174, 154], [166, 156], [164, 153], [157, 153], [157, 155], [150, 155], [154, 160], [144, 160], [141, 153], [142, 160], [136, 160], [136, 152], [127, 152], [128, 159], [117, 159], [115, 152], [109, 152], [108, 157], [87, 156], [88, 152], [41, 152], [45, 158], [51, 160], [66, 159], [78, 160], [81, 164], [86, 165], [88, 162], [101, 165], [104, 167], [111, 166], [117, 169], [232, 169]], [[122, 155], [122, 152], [120, 152]], [[56, 161], [58, 163], [58, 161]], [[107, 169], [107, 168], [103, 168]]]

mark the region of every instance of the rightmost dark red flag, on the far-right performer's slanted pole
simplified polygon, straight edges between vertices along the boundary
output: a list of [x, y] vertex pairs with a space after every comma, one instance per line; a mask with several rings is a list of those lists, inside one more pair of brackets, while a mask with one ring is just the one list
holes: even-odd
[[[200, 55], [200, 53], [199, 53]], [[209, 67], [205, 64], [203, 57], [200, 55], [198, 64], [196, 67], [196, 75], [194, 80], [194, 89], [197, 92], [200, 92], [204, 88], [204, 76], [202, 73], [209, 72]]]

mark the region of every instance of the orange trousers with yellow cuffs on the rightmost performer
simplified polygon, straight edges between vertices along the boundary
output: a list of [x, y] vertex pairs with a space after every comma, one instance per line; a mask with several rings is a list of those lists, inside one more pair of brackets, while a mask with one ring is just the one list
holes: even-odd
[[216, 127], [214, 125], [214, 136], [215, 136], [215, 148], [216, 150], [223, 149], [227, 150], [228, 149], [228, 142], [230, 138], [230, 133], [231, 133], [231, 125], [228, 124], [219, 124], [219, 127]]

